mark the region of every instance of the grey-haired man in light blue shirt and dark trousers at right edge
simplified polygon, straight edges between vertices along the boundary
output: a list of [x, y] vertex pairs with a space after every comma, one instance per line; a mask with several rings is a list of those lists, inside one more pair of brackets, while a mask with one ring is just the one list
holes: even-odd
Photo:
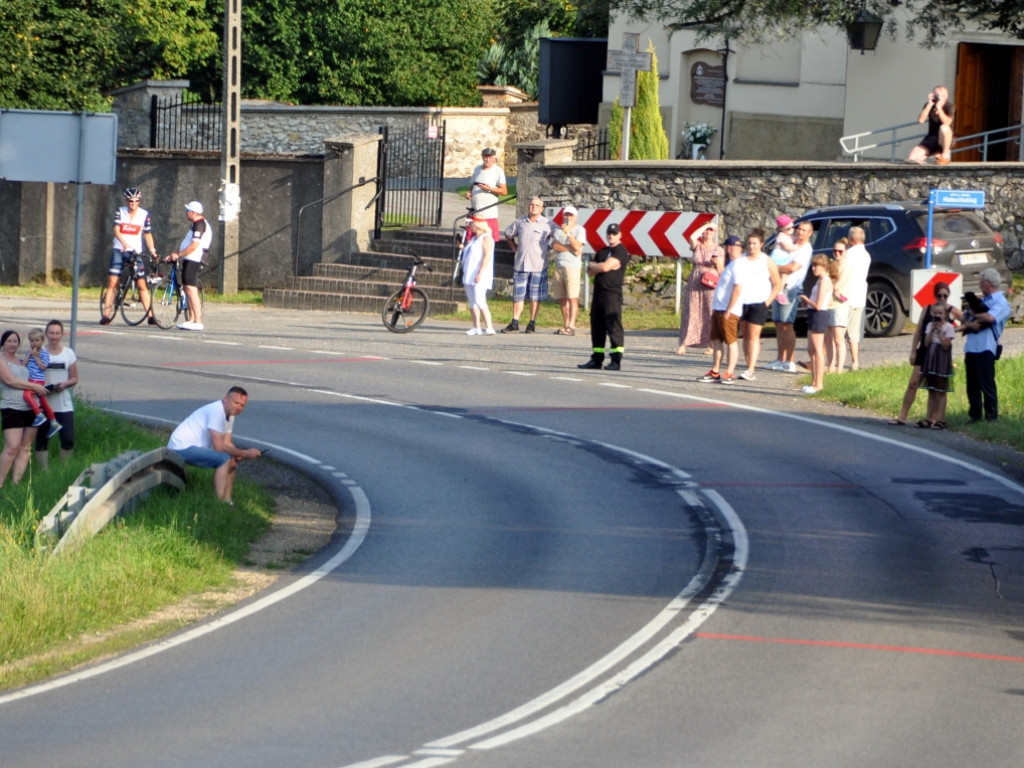
[[999, 418], [999, 399], [995, 389], [995, 355], [999, 336], [1010, 318], [1010, 304], [999, 291], [1002, 278], [997, 269], [982, 270], [979, 275], [982, 299], [987, 311], [975, 314], [964, 324], [964, 369], [967, 372], [968, 416], [971, 423], [981, 421], [984, 404], [986, 421]]

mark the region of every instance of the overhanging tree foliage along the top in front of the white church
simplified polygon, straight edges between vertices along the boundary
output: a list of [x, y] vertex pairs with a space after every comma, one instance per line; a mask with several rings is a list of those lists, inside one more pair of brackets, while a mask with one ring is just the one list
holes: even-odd
[[[610, 0], [638, 18], [657, 18], [701, 36], [728, 36], [746, 43], [792, 37], [821, 27], [845, 29], [861, 10], [883, 19], [890, 35], [943, 45], [966, 27], [998, 30], [1024, 38], [1024, 0]], [[901, 27], [902, 25], [902, 27]]]

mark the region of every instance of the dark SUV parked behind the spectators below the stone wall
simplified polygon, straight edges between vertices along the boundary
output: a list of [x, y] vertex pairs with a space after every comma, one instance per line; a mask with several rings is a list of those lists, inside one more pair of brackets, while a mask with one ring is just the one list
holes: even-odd
[[[861, 226], [871, 255], [867, 278], [864, 333], [895, 336], [903, 330], [910, 310], [910, 270], [925, 268], [928, 240], [928, 202], [815, 208], [797, 219], [814, 225], [814, 253], [831, 256], [833, 244], [851, 226]], [[769, 244], [774, 238], [769, 239]], [[766, 244], [765, 250], [771, 253]], [[964, 275], [964, 291], [980, 292], [978, 274], [995, 267], [1004, 285], [1012, 285], [1002, 258], [1002, 236], [989, 228], [974, 211], [936, 208], [932, 218], [932, 266]], [[808, 272], [808, 293], [814, 276]]]

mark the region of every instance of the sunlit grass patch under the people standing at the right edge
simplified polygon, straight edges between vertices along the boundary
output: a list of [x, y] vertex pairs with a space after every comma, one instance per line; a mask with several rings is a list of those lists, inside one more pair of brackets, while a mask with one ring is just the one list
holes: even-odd
[[[995, 383], [999, 390], [999, 418], [995, 422], [968, 424], [963, 358], [954, 360], [954, 366], [953, 391], [949, 393], [946, 404], [948, 428], [1024, 452], [1024, 355], [1004, 357], [995, 364]], [[825, 376], [824, 389], [816, 396], [895, 418], [909, 378], [909, 366], [884, 366], [830, 374]], [[925, 418], [927, 403], [928, 390], [918, 390], [908, 423], [913, 424]]]

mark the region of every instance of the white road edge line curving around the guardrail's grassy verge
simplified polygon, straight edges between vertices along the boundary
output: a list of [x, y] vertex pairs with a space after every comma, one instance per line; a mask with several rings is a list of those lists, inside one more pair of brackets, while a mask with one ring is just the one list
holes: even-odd
[[[165, 420], [160, 420], [165, 421]], [[261, 442], [254, 440], [253, 442]], [[274, 451], [281, 453], [289, 454], [300, 461], [304, 461], [308, 464], [319, 465], [321, 462], [313, 459], [305, 454], [300, 454], [297, 451], [292, 451], [284, 445], [276, 445], [274, 443], [263, 442], [262, 444], [272, 447]], [[20, 698], [28, 698], [29, 696], [34, 696], [39, 693], [45, 693], [47, 691], [56, 690], [57, 688], [63, 688], [65, 686], [71, 685], [72, 683], [78, 683], [83, 680], [88, 680], [89, 678], [98, 677], [99, 675], [112, 672], [114, 670], [121, 669], [122, 667], [127, 667], [135, 662], [140, 662], [143, 658], [148, 658], [150, 656], [156, 655], [170, 648], [177, 647], [179, 645], [184, 645], [185, 643], [196, 640], [204, 635], [208, 635], [211, 632], [222, 629], [229, 625], [234, 624], [243, 618], [257, 613], [264, 608], [268, 608], [274, 603], [281, 602], [282, 600], [291, 597], [292, 595], [301, 592], [307, 587], [311, 587], [316, 582], [318, 582], [324, 577], [331, 573], [331, 571], [338, 568], [342, 563], [344, 563], [348, 558], [350, 558], [355, 551], [361, 546], [364, 540], [367, 538], [367, 532], [370, 529], [370, 500], [367, 499], [366, 494], [362, 488], [358, 486], [349, 486], [349, 490], [352, 494], [352, 498], [355, 501], [355, 523], [352, 526], [352, 532], [345, 542], [345, 545], [326, 563], [321, 565], [315, 570], [307, 573], [296, 582], [293, 582], [287, 587], [271, 592], [268, 595], [264, 595], [260, 599], [246, 605], [243, 608], [239, 608], [230, 613], [227, 613], [219, 618], [215, 618], [208, 624], [201, 625], [195, 629], [183, 632], [180, 635], [175, 635], [166, 640], [162, 640], [154, 645], [137, 650], [134, 653], [129, 653], [126, 656], [120, 656], [118, 658], [112, 659], [105, 664], [98, 665], [96, 667], [91, 667], [82, 672], [77, 672], [72, 675], [67, 675], [65, 677], [59, 677], [55, 680], [51, 680], [40, 685], [35, 685], [30, 688], [25, 688], [14, 693], [9, 693], [7, 695], [0, 696], [0, 706], [9, 703], [11, 701], [16, 701]]]

